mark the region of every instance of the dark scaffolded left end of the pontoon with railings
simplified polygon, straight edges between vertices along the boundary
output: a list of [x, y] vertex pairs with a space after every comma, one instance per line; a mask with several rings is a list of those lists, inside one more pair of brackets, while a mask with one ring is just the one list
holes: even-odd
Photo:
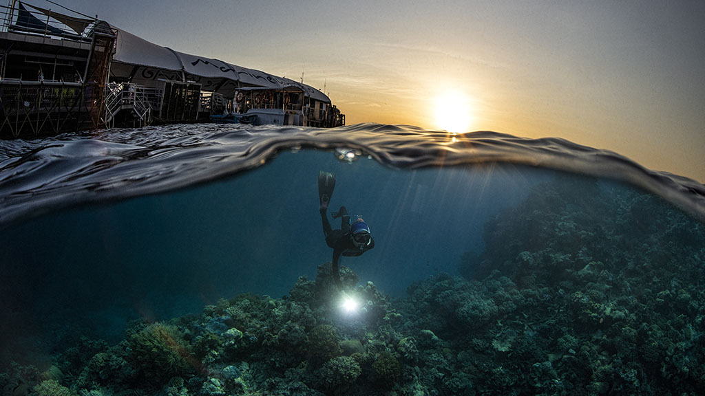
[[[32, 20], [34, 17], [25, 15], [20, 23], [16, 20], [20, 18], [18, 10], [22, 8], [26, 14], [22, 4], [27, 5], [11, 0], [7, 7], [0, 7], [0, 13], [4, 13], [0, 31], [0, 137], [103, 128], [105, 89], [117, 32], [97, 18], [80, 13], [76, 14], [86, 18], [66, 16], [32, 5], [46, 19]], [[50, 26], [54, 18], [68, 28]], [[37, 28], [42, 23], [45, 26]], [[8, 57], [13, 57], [11, 63]], [[50, 68], [54, 65], [51, 70], [42, 70], [45, 58], [53, 61], [49, 63]], [[57, 63], [59, 59], [68, 61]], [[77, 66], [72, 69], [74, 63]], [[35, 70], [38, 67], [39, 72], [27, 73], [29, 66]]]

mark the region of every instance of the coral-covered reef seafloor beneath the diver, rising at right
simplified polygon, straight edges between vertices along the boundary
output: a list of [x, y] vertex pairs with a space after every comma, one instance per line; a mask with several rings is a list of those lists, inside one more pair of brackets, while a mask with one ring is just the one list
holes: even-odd
[[[460, 276], [389, 299], [329, 266], [286, 298], [239, 295], [133, 323], [116, 345], [75, 335], [5, 395], [700, 395], [705, 227], [649, 194], [546, 183], [484, 228]], [[314, 264], [312, 264], [314, 265]], [[365, 283], [365, 282], [362, 282]], [[354, 289], [354, 291], [352, 291]]]

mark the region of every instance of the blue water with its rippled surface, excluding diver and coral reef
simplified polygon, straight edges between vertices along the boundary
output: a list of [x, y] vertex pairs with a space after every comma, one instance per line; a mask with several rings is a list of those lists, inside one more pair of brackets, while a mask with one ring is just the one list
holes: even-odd
[[376, 242], [341, 264], [395, 298], [467, 275], [486, 224], [554, 180], [658, 197], [691, 229], [705, 219], [704, 185], [558, 139], [171, 125], [1, 142], [0, 357], [46, 365], [78, 334], [113, 344], [135, 319], [199, 314], [243, 292], [279, 299], [314, 280], [331, 261], [321, 170], [336, 174], [331, 209], [364, 216]]

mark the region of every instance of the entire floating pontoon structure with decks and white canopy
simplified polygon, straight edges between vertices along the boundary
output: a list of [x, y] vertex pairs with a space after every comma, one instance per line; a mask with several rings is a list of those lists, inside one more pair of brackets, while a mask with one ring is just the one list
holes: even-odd
[[319, 89], [59, 7], [71, 15], [19, 0], [0, 6], [0, 135], [210, 119], [345, 124]]

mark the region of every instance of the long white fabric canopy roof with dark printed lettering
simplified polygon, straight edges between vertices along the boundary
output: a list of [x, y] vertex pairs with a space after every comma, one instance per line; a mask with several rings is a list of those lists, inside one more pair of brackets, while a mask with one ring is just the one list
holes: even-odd
[[205, 58], [161, 47], [130, 32], [113, 27], [118, 32], [114, 63], [155, 68], [158, 70], [179, 71], [185, 80], [192, 80], [202, 85], [204, 90], [219, 92], [230, 96], [239, 87], [262, 87], [266, 89], [285, 89], [298, 87], [308, 97], [331, 103], [323, 92], [302, 84], [281, 78], [260, 70], [243, 68], [219, 59]]

